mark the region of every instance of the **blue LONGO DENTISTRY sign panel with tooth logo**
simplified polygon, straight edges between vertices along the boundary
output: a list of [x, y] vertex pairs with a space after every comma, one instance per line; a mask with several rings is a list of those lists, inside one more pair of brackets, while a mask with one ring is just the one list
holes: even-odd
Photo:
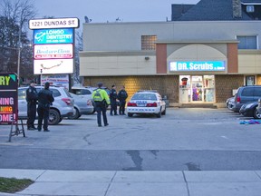
[[71, 44], [73, 34], [73, 28], [36, 29], [34, 30], [34, 44]]

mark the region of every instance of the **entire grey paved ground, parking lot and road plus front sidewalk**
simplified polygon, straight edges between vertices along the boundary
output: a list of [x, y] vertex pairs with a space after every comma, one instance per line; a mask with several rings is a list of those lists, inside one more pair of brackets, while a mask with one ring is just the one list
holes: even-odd
[[12, 142], [1, 125], [0, 176], [35, 182], [0, 195], [260, 195], [261, 124], [226, 109], [108, 118], [108, 127], [88, 115]]

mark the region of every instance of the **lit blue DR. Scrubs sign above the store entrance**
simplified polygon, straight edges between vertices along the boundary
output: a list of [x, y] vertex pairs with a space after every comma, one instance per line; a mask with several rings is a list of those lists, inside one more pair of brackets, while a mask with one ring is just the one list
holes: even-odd
[[222, 72], [226, 71], [225, 61], [210, 62], [170, 62], [170, 72]]

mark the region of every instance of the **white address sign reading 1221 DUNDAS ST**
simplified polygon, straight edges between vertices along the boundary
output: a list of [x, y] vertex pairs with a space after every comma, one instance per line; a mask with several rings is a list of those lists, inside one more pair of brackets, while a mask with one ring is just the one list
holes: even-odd
[[52, 18], [33, 19], [29, 21], [30, 29], [50, 29], [50, 28], [78, 28], [78, 18]]

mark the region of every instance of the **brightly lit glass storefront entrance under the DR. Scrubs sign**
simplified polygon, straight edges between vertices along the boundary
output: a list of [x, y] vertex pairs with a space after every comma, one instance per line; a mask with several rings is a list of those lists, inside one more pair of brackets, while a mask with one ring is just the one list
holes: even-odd
[[213, 103], [214, 75], [180, 75], [179, 103]]

